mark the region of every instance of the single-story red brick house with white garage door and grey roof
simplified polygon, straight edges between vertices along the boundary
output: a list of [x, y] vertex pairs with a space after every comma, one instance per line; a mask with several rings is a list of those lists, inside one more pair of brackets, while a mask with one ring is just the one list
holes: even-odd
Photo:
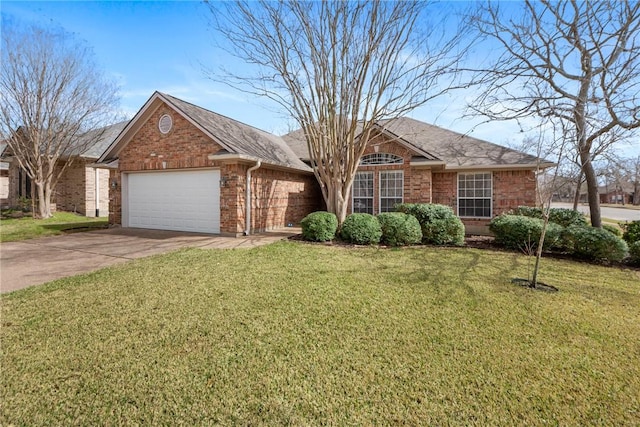
[[[100, 157], [111, 169], [109, 221], [123, 227], [241, 235], [298, 224], [323, 208], [302, 131], [283, 137], [155, 92]], [[451, 206], [470, 232], [535, 205], [549, 162], [436, 126], [378, 123], [350, 212], [396, 203]]]

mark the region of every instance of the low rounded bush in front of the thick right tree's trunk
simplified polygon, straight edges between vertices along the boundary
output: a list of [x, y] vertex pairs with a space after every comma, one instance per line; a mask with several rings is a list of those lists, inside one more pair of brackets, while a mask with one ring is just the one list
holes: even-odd
[[573, 225], [563, 233], [571, 252], [594, 261], [622, 261], [629, 253], [627, 243], [602, 228]]

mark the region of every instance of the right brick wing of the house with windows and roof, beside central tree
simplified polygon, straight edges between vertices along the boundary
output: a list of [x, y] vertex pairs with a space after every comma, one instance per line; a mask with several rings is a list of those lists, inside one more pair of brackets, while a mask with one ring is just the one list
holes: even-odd
[[[302, 131], [283, 138], [301, 158], [309, 158]], [[460, 216], [467, 232], [483, 233], [494, 216], [535, 206], [536, 170], [552, 165], [418, 120], [383, 120], [360, 161], [349, 212], [378, 214], [397, 203], [440, 203]]]

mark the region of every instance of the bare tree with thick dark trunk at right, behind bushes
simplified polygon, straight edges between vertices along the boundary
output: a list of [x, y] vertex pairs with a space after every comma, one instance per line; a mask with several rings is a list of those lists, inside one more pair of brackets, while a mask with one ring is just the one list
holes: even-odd
[[640, 2], [527, 0], [517, 13], [488, 3], [470, 25], [500, 54], [479, 71], [472, 109], [489, 118], [565, 121], [601, 226], [594, 154], [640, 127]]

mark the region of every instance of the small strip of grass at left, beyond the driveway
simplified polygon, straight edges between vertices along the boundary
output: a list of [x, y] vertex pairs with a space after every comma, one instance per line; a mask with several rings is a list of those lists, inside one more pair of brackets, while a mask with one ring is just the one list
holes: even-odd
[[107, 218], [89, 218], [69, 212], [56, 212], [47, 219], [3, 219], [0, 221], [0, 242], [57, 236], [65, 230], [105, 228], [107, 224]]

